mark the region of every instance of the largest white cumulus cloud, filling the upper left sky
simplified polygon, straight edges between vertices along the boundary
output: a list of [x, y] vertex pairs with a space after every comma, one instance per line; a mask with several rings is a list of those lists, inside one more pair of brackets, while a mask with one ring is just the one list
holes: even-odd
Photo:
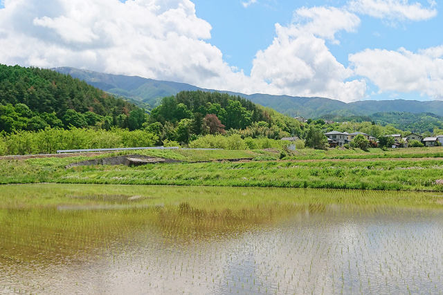
[[73, 66], [208, 88], [251, 87], [205, 41], [211, 26], [189, 0], [6, 0], [5, 7], [2, 63]]

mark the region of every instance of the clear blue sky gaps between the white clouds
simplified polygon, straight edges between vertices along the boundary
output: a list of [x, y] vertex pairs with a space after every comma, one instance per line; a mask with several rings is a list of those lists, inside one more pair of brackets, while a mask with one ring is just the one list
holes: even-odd
[[[346, 1], [271, 1], [262, 0], [242, 6], [242, 1], [195, 0], [197, 16], [206, 19], [211, 26], [214, 44], [226, 55], [226, 60], [246, 73], [250, 73], [257, 50], [265, 49], [275, 37], [275, 23], [291, 23], [293, 12], [300, 7], [345, 6]], [[427, 6], [427, 1], [422, 1]], [[421, 48], [443, 44], [443, 17], [426, 21], [383, 21], [361, 17], [358, 32], [339, 34], [341, 44], [329, 49], [342, 64], [347, 55], [365, 48], [396, 50], [404, 47], [417, 51]], [[330, 44], [330, 43], [329, 43]]]

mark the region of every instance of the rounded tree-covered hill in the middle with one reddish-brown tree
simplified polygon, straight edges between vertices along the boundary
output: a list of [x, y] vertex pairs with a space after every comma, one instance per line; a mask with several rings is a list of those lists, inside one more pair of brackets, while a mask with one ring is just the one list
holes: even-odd
[[163, 98], [151, 111], [148, 131], [160, 140], [187, 144], [199, 135], [237, 134], [245, 137], [280, 139], [300, 135], [300, 123], [271, 109], [228, 95], [204, 91], [183, 91]]

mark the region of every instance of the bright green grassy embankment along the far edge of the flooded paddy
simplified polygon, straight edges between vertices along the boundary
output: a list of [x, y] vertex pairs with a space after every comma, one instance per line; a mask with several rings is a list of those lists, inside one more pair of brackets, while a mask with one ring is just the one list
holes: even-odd
[[[304, 155], [295, 156], [304, 161], [280, 161], [276, 160], [279, 153], [272, 151], [144, 151], [146, 155], [185, 162], [137, 167], [78, 166], [72, 169], [65, 169], [64, 166], [91, 157], [1, 160], [0, 183], [174, 184], [443, 191], [443, 184], [439, 181], [443, 179], [443, 160], [438, 159], [440, 153], [443, 153], [442, 148], [344, 152], [335, 149], [305, 149], [299, 152], [305, 153]], [[363, 158], [364, 155], [368, 157], [367, 160]], [[107, 156], [109, 154], [99, 157]], [[192, 163], [230, 158], [255, 158], [255, 161]], [[363, 160], [334, 160], [340, 158]], [[391, 160], [395, 158], [397, 160]]]

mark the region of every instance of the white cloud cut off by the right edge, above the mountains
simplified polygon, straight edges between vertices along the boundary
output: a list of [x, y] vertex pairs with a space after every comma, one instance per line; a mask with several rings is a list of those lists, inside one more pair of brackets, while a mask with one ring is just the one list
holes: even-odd
[[443, 48], [412, 53], [399, 50], [367, 49], [350, 55], [357, 75], [368, 77], [381, 92], [418, 92], [443, 99]]

